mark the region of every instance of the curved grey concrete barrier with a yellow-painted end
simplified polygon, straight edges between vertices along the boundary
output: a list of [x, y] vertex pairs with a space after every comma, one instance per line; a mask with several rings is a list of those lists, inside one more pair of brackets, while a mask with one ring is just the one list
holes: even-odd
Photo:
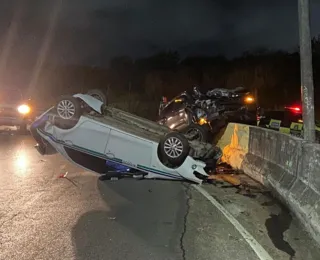
[[229, 124], [222, 160], [270, 188], [320, 243], [320, 145], [276, 131]]

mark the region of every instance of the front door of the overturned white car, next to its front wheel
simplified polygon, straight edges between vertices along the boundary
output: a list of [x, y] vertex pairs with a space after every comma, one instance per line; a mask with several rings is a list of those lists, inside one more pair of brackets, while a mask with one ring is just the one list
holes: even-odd
[[118, 162], [136, 167], [151, 164], [152, 150], [152, 141], [111, 129], [105, 153]]

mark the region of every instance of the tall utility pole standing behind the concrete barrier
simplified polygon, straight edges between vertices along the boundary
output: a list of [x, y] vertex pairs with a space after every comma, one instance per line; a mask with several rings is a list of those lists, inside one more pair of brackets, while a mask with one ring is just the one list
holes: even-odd
[[306, 141], [315, 142], [314, 88], [309, 6], [309, 0], [298, 0], [303, 132]]

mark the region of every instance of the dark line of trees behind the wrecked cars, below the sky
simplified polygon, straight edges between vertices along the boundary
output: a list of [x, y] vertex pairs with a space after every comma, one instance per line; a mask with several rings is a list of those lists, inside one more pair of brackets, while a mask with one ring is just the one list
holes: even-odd
[[[315, 97], [320, 97], [320, 37], [312, 40], [312, 47]], [[300, 99], [299, 53], [257, 50], [232, 60], [222, 56], [182, 59], [175, 51], [138, 60], [115, 57], [107, 69], [47, 67], [36, 89], [37, 95], [47, 100], [60, 94], [100, 88], [108, 91], [115, 105], [146, 115], [156, 113], [162, 95], [170, 98], [195, 84], [204, 91], [245, 86], [256, 95], [259, 105], [281, 107]]]

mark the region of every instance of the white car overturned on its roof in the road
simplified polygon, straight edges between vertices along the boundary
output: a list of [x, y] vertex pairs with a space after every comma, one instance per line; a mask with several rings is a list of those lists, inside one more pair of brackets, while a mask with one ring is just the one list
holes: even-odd
[[[91, 94], [61, 97], [30, 127], [42, 155], [60, 153], [72, 163], [106, 173], [107, 161], [145, 173], [145, 178], [201, 183], [217, 150], [156, 122], [108, 107]], [[218, 155], [219, 157], [219, 155]]]

